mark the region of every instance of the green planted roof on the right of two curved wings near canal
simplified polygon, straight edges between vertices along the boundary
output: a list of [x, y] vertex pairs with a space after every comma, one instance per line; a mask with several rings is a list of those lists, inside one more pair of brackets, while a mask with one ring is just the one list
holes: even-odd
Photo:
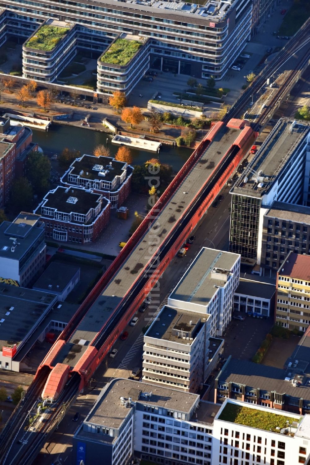
[[112, 65], [127, 65], [142, 45], [143, 43], [139, 42], [139, 40], [117, 39], [109, 50], [102, 55], [100, 61]]

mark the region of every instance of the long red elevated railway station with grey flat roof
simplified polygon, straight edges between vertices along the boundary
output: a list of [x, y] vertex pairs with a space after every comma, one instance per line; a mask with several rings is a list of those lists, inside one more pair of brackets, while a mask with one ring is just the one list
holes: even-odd
[[92, 377], [251, 148], [257, 133], [248, 124], [217, 122], [192, 153], [46, 355], [37, 372], [46, 366], [52, 370], [44, 398], [56, 399], [69, 375], [79, 373], [79, 391]]

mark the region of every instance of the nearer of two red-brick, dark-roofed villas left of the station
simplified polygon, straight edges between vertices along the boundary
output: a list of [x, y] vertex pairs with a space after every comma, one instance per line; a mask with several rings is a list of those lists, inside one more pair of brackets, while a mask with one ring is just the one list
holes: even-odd
[[85, 244], [94, 241], [110, 218], [110, 201], [101, 194], [58, 186], [33, 213], [41, 215], [46, 238]]

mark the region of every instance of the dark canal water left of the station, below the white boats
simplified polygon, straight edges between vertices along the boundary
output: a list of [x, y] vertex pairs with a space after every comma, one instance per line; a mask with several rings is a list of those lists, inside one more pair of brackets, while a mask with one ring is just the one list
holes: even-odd
[[[111, 154], [114, 155], [119, 148], [116, 144], [111, 143], [112, 137], [109, 134], [82, 127], [52, 124], [48, 132], [34, 128], [32, 131], [33, 142], [37, 142], [46, 155], [59, 154], [65, 147], [77, 149], [82, 155], [84, 153], [91, 155], [93, 149], [99, 144], [108, 145]], [[107, 139], [108, 144], [106, 144]], [[131, 153], [133, 165], [141, 165], [153, 157], [158, 158], [155, 152], [131, 149]], [[191, 149], [163, 145], [160, 149], [159, 160], [171, 165], [173, 171], [177, 172], [191, 153]]]

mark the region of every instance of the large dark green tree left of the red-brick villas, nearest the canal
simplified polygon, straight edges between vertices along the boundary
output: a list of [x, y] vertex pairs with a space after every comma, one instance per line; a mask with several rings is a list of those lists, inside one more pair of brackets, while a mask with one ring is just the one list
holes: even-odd
[[31, 152], [26, 161], [26, 178], [37, 194], [46, 193], [49, 188], [51, 162], [41, 152]]

